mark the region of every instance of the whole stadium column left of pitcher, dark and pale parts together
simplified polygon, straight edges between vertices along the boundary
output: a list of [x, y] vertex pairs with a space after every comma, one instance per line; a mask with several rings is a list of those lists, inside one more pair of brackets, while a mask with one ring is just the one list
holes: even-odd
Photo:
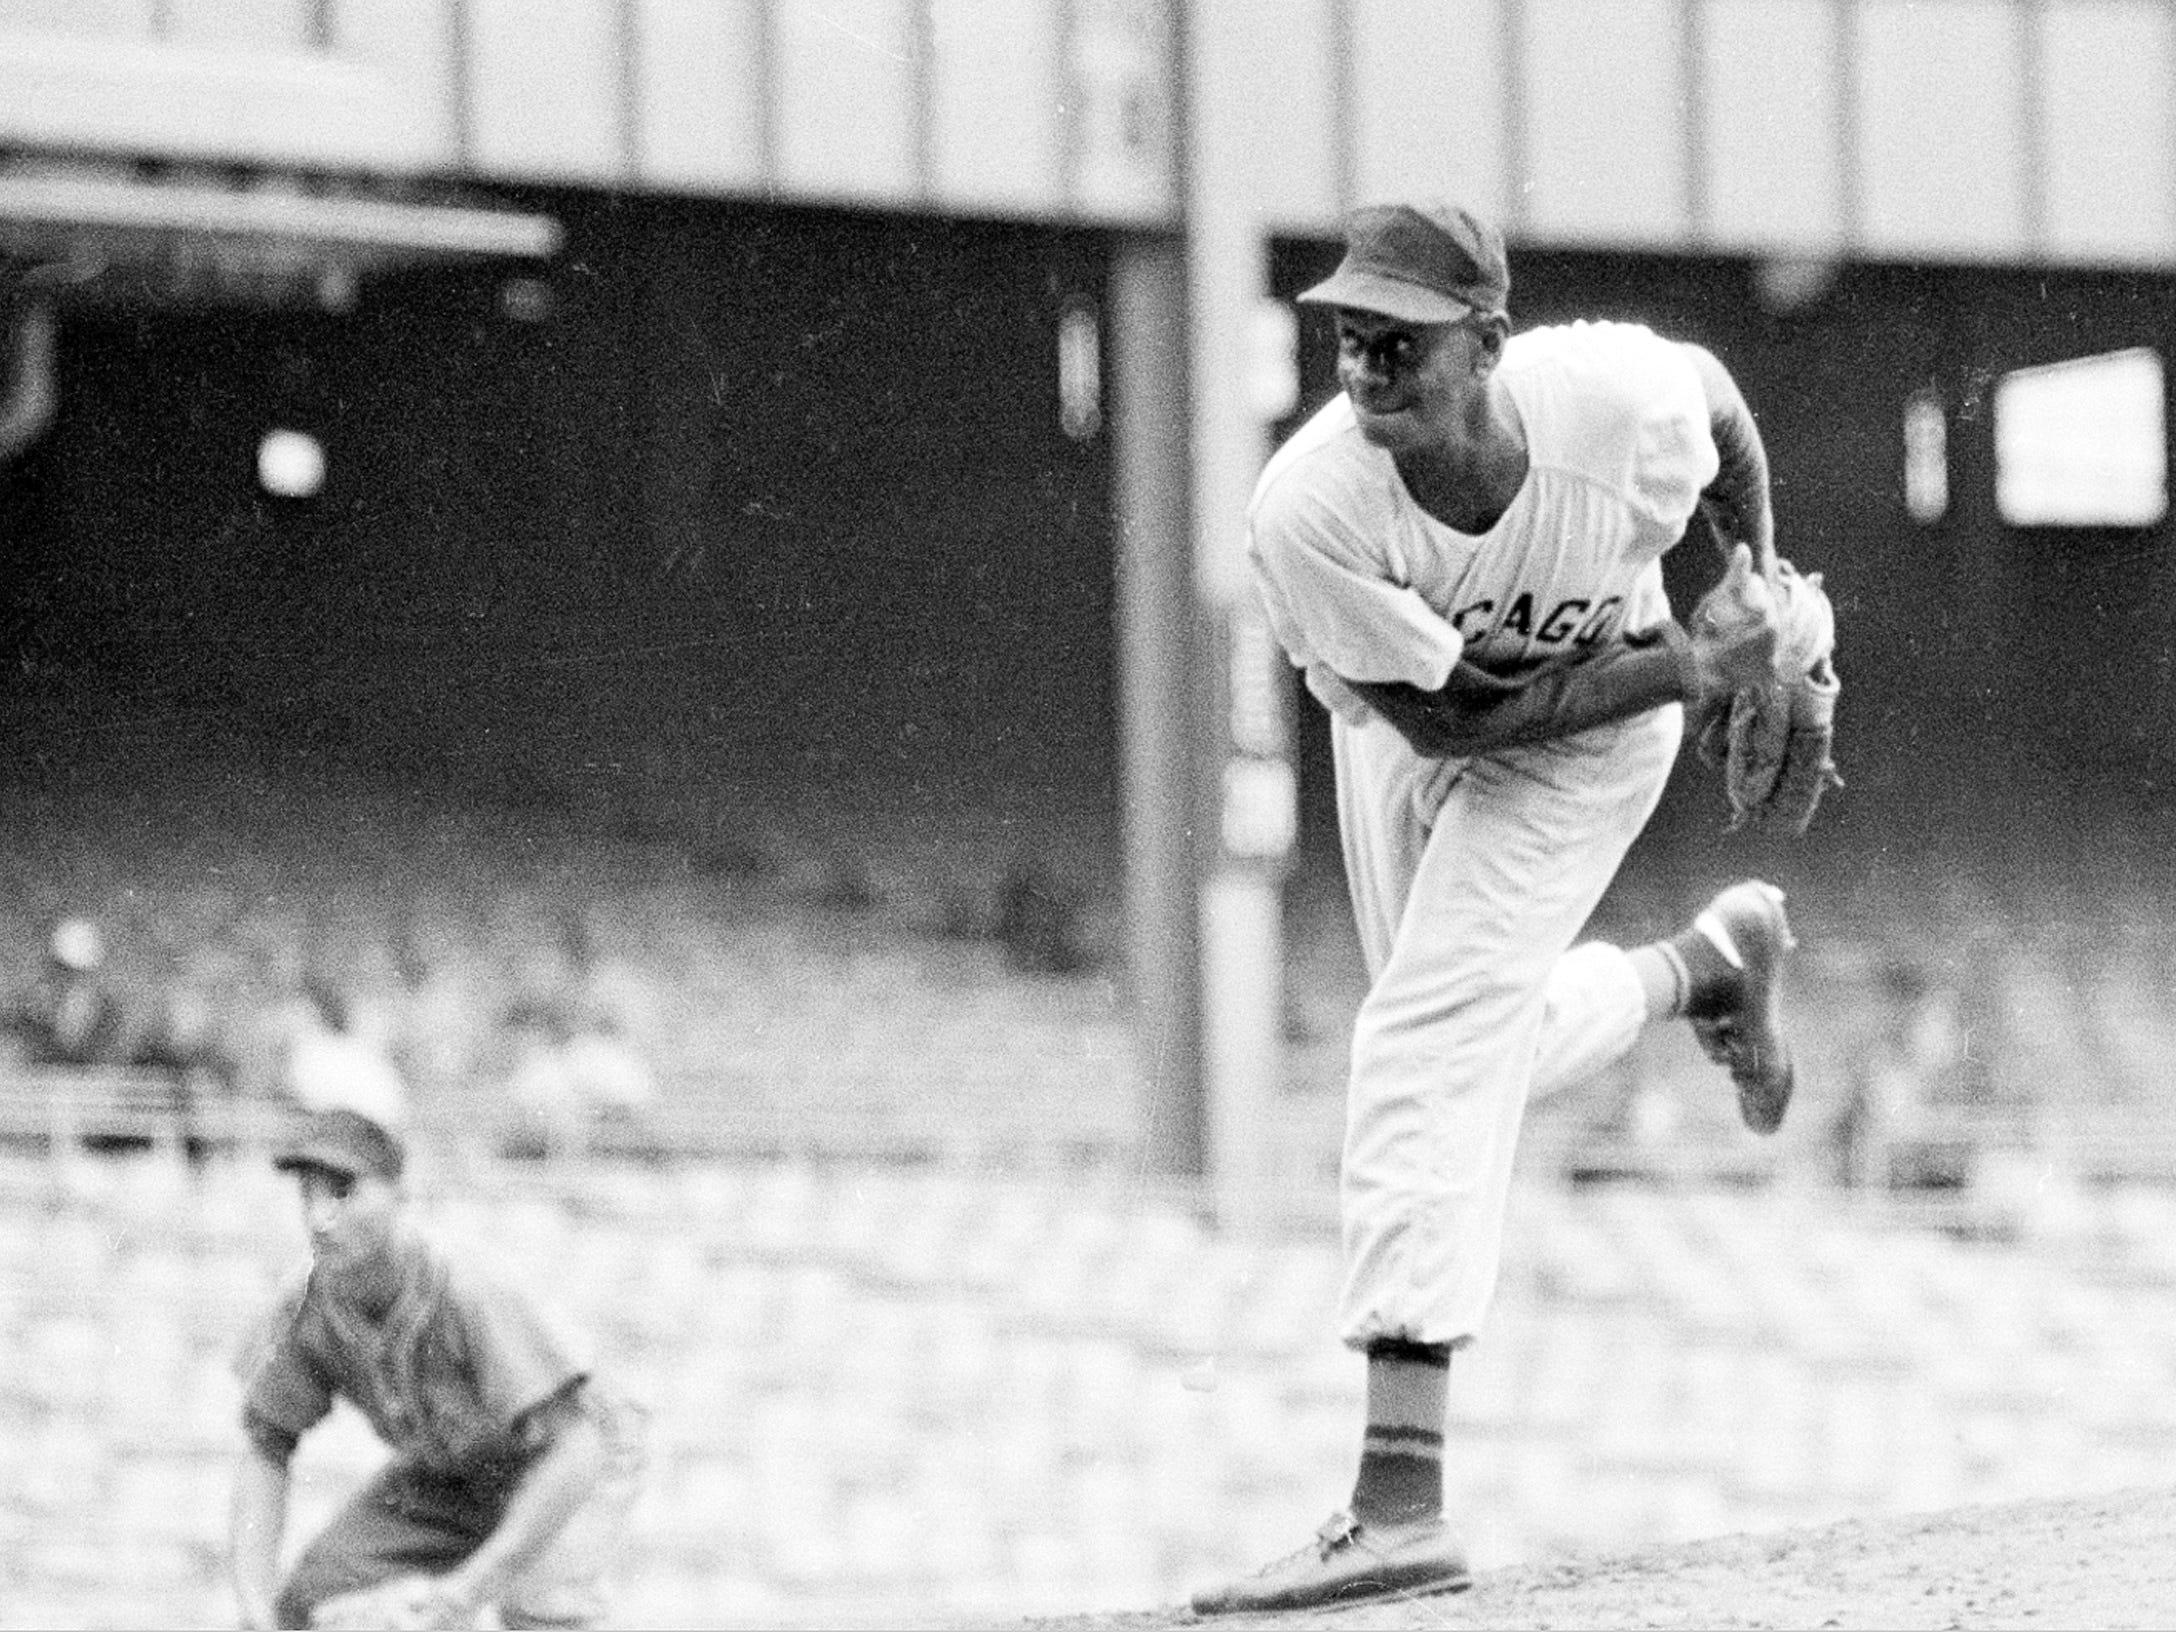
[[1288, 675], [1245, 561], [1273, 418], [1260, 85], [1234, 48], [1242, 9], [1166, 2], [1179, 220], [1118, 242], [1110, 296], [1127, 923], [1149, 1160], [1206, 1177], [1219, 1223], [1251, 1229], [1273, 1201], [1297, 825]]

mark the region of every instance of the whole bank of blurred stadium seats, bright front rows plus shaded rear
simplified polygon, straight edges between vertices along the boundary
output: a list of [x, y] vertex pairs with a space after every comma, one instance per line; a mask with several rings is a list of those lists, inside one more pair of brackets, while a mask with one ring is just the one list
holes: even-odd
[[[96, 914], [131, 1001], [205, 986], [244, 1084], [298, 975], [342, 975], [413, 1077], [426, 1203], [548, 1279], [653, 1404], [635, 1619], [1145, 1606], [1290, 1545], [1349, 1480], [1330, 1310], [1360, 970], [1319, 868], [1288, 892], [1275, 1229], [1238, 1236], [1145, 1177], [1110, 844], [1066, 816], [923, 838], [753, 801], [631, 823], [102, 788], [0, 814], [7, 973]], [[1075, 968], [1005, 940], [1023, 853], [1066, 862]], [[1797, 888], [1804, 1086], [1773, 1140], [1684, 1027], [1534, 1108], [1499, 1334], [1456, 1390], [1482, 1562], [2161, 1478], [2176, 914], [2152, 903], [2176, 890], [2109, 855], [2006, 894], [1893, 862]], [[1697, 899], [1634, 870], [1597, 931]], [[655, 1066], [653, 1121], [640, 1149], [509, 1160], [503, 1023], [570, 966]], [[1948, 1042], [1913, 1042], [1932, 1021]], [[1930, 1062], [1897, 1140], [1961, 1140], [1948, 1188], [1839, 1184], [1880, 1040]], [[154, 1134], [157, 1092], [0, 1071], [9, 1623], [226, 1617], [226, 1358], [300, 1232], [270, 1123], [194, 1166], [87, 1149]], [[374, 1456], [346, 1417], [313, 1438], [302, 1528]]]

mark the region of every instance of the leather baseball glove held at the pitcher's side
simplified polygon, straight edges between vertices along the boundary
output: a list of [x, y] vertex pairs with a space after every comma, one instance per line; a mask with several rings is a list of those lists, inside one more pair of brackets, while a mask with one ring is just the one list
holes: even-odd
[[1699, 757], [1723, 772], [1732, 831], [1797, 838], [1813, 825], [1821, 794], [1843, 786], [1832, 757], [1843, 690], [1837, 614], [1819, 572], [1802, 574], [1778, 559], [1771, 588], [1776, 675], [1710, 703], [1699, 725]]

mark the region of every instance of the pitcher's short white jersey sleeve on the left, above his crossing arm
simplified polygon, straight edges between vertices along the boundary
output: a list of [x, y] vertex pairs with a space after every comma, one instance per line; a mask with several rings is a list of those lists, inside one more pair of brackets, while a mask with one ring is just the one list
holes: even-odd
[[1343, 698], [1360, 705], [1340, 679], [1432, 692], [1464, 651], [1458, 631], [1395, 577], [1386, 542], [1349, 520], [1356, 509], [1293, 474], [1266, 487], [1247, 518], [1247, 557], [1269, 627], [1332, 707]]

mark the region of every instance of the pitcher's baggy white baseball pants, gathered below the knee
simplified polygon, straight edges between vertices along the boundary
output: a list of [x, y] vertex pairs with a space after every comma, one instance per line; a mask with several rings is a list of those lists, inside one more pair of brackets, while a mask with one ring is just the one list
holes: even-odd
[[1332, 722], [1369, 994], [1347, 1090], [1340, 1334], [1469, 1343], [1495, 1297], [1530, 1095], [1647, 1018], [1623, 951], [1573, 947], [1669, 781], [1676, 705], [1536, 749], [1425, 759]]

